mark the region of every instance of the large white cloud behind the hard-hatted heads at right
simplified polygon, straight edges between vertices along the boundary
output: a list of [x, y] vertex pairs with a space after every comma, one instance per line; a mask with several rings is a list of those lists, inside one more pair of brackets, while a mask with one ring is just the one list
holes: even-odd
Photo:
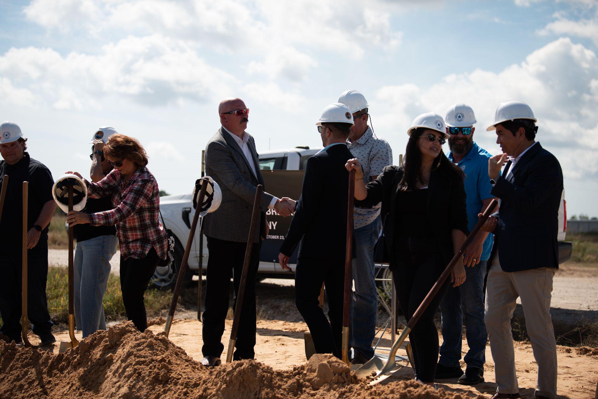
[[[447, 75], [440, 83], [420, 88], [413, 84], [378, 90], [372, 109], [381, 109], [379, 126], [410, 126], [423, 112], [444, 115], [453, 103], [474, 107], [478, 119], [475, 139], [495, 150], [495, 135], [486, 132], [499, 103], [527, 102], [538, 118], [538, 140], [562, 163], [566, 177], [598, 177], [598, 60], [593, 51], [569, 38], [539, 48], [518, 65], [495, 73], [477, 69]], [[405, 132], [397, 132], [407, 142]], [[404, 148], [399, 146], [399, 151]]]

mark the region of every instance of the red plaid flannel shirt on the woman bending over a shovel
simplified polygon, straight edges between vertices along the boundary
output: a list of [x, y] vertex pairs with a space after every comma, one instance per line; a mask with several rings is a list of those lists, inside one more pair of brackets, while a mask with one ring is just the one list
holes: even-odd
[[121, 257], [140, 259], [153, 247], [158, 257], [166, 258], [166, 230], [158, 218], [158, 183], [147, 167], [138, 168], [128, 182], [113, 169], [99, 182], [86, 183], [90, 198], [112, 196], [114, 209], [90, 214], [89, 221], [91, 226], [116, 226]]

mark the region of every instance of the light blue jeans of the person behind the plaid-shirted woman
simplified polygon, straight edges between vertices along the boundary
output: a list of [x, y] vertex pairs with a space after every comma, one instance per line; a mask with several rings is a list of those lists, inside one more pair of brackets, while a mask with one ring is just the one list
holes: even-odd
[[108, 286], [110, 260], [116, 253], [116, 236], [99, 236], [77, 242], [74, 270], [75, 323], [83, 338], [106, 330], [102, 299]]

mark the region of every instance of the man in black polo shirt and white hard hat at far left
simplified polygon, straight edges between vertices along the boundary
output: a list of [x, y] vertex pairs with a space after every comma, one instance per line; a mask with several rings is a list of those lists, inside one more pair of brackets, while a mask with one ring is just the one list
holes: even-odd
[[48, 313], [45, 284], [48, 276], [48, 226], [56, 203], [52, 197], [54, 181], [50, 170], [29, 157], [27, 139], [16, 123], [0, 125], [0, 182], [8, 175], [8, 186], [2, 209], [0, 232], [0, 333], [16, 343], [21, 337], [21, 270], [22, 270], [22, 217], [23, 181], [29, 182], [28, 202], [28, 316], [33, 333], [42, 345], [56, 342], [51, 333], [53, 322]]

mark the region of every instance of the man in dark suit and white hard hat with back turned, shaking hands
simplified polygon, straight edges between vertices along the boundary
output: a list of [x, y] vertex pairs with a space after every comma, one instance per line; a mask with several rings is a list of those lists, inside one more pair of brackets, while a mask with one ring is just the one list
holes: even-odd
[[[349, 172], [344, 164], [353, 158], [346, 144], [353, 115], [346, 105], [333, 103], [324, 109], [316, 125], [324, 150], [307, 160], [301, 197], [278, 259], [283, 269], [289, 269], [289, 257], [299, 245], [295, 269], [297, 309], [312, 333], [316, 352], [340, 358], [349, 190]], [[322, 283], [329, 322], [319, 307]]]

